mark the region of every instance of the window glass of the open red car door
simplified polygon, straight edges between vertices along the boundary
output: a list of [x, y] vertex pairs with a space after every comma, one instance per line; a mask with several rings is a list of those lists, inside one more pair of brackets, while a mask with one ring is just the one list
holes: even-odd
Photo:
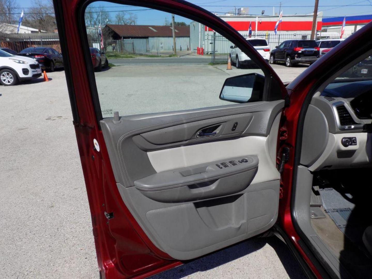
[[[121, 5], [118, 10], [141, 10], [141, 13], [118, 13], [121, 16], [119, 24], [115, 14], [105, 13], [107, 24], [102, 28], [102, 48], [99, 28], [92, 20], [100, 5], [112, 5], [102, 3], [88, 5], [82, 24], [87, 31], [87, 52], [90, 54], [89, 48], [93, 47], [97, 53], [104, 52], [107, 59], [105, 65], [102, 64], [103, 71], [96, 65], [93, 68], [93, 57], [90, 61], [90, 69], [97, 71], [93, 78], [103, 118], [112, 117], [115, 111], [120, 115], [137, 115], [221, 105], [239, 106], [236, 103], [262, 101], [263, 96], [266, 97], [263, 94], [266, 70], [263, 71], [251, 59], [256, 52], [249, 54], [245, 51], [247, 55], [244, 55], [243, 48], [242, 54], [237, 54], [238, 60], [236, 57], [231, 60], [233, 70], [229, 71], [230, 47], [237, 48], [235, 43], [208, 26], [182, 16], [175, 15], [176, 38], [173, 40], [170, 13]], [[131, 25], [128, 23], [130, 20]], [[243, 36], [248, 38], [248, 31]], [[265, 67], [263, 63], [262, 68]], [[225, 91], [222, 90], [227, 77], [244, 74], [251, 76], [237, 82], [230, 80], [224, 87]], [[254, 83], [254, 78], [257, 83]], [[254, 87], [253, 90], [253, 84], [259, 84], [257, 89]], [[229, 102], [225, 96], [238, 99], [229, 99]]]

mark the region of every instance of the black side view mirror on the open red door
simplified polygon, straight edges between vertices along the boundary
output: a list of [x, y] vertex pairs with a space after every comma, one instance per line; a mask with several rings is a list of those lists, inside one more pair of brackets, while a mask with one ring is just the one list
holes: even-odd
[[264, 83], [265, 77], [257, 73], [226, 78], [219, 99], [235, 103], [260, 101]]

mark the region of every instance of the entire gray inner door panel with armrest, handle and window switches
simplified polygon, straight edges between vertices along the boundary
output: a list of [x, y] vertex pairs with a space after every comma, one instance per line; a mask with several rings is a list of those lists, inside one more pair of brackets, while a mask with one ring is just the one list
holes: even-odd
[[100, 121], [121, 198], [158, 248], [193, 259], [275, 223], [283, 106], [279, 100]]

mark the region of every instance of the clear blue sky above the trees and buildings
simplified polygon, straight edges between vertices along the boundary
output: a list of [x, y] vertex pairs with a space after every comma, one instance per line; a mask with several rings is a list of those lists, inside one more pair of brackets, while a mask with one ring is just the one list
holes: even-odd
[[[249, 7], [250, 14], [261, 14], [262, 10], [265, 10], [265, 15], [273, 14], [273, 7], [275, 12], [279, 12], [280, 1], [273, 0], [190, 0], [191, 3], [202, 6], [204, 9], [209, 10], [210, 12], [228, 12], [235, 10], [235, 7]], [[304, 14], [312, 13], [314, 11], [315, 0], [283, 0], [282, 9], [284, 15], [294, 15], [294, 14]], [[46, 2], [45, 2], [46, 3]], [[31, 7], [30, 0], [17, 0], [19, 7]], [[109, 2], [96, 2], [91, 4], [92, 6], [105, 6], [106, 10], [109, 11], [118, 11], [118, 10], [135, 10], [141, 9], [140, 7], [128, 7], [122, 6], [119, 7], [116, 3]], [[331, 6], [334, 7], [325, 7]], [[363, 5], [363, 6], [362, 6]], [[323, 7], [322, 7], [323, 6]], [[143, 9], [143, 8], [142, 8]], [[372, 0], [319, 0], [319, 11], [323, 11], [323, 16], [351, 16], [351, 15], [368, 15], [372, 14]], [[145, 10], [133, 12], [137, 15], [138, 20], [137, 24], [141, 25], [163, 25], [165, 17], [168, 20], [171, 19], [170, 15], [164, 12], [159, 12], [155, 10]], [[26, 15], [25, 15], [26, 16]], [[115, 17], [115, 12], [111, 13], [111, 17]], [[176, 16], [176, 21], [187, 21], [181, 17]]]

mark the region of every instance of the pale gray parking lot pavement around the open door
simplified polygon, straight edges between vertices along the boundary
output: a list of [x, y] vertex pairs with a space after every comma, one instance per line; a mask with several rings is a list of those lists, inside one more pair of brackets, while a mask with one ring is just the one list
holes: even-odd
[[[283, 81], [306, 69], [273, 66]], [[123, 63], [96, 73], [96, 80], [100, 94], [113, 92], [108, 106], [123, 107], [121, 114], [130, 115], [195, 107], [201, 99], [202, 106], [221, 104], [218, 95], [225, 78], [252, 71], [225, 68]], [[1, 277], [99, 278], [64, 71], [48, 77], [48, 82], [38, 78], [0, 86]], [[172, 87], [174, 94], [163, 94], [170, 84], [178, 84]], [[141, 103], [131, 99], [139, 92]], [[304, 278], [304, 274], [285, 244], [271, 237], [244, 241], [154, 278]]]

